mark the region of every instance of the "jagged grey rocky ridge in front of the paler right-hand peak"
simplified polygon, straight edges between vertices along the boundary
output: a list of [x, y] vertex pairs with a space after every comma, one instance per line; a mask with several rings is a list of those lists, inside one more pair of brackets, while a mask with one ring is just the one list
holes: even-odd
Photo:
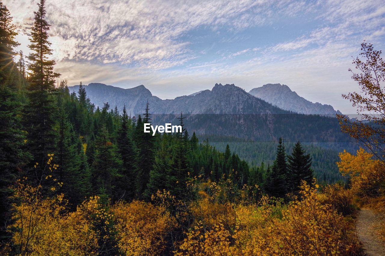
[[[186, 114], [269, 114], [281, 113], [275, 106], [250, 95], [234, 84], [216, 83], [211, 90], [203, 90], [193, 95], [178, 96], [174, 99], [162, 100], [152, 95], [144, 85], [133, 88], [120, 88], [101, 83], [83, 85], [87, 96], [95, 106], [101, 108], [104, 103], [119, 110], [126, 106], [127, 112], [134, 115], [144, 113], [149, 104], [154, 114], [175, 114], [181, 111]], [[69, 86], [70, 92], [77, 92], [79, 85]]]

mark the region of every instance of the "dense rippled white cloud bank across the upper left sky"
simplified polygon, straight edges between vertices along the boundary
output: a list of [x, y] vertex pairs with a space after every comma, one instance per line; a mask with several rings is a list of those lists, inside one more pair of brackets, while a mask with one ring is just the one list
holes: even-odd
[[[286, 3], [287, 2], [287, 3]], [[191, 58], [180, 39], [202, 26], [242, 30], [261, 25], [271, 8], [293, 1], [52, 0], [46, 3], [50, 35], [60, 60], [88, 60], [164, 69]], [[19, 32], [28, 35], [37, 0], [6, 0]], [[285, 8], [286, 9], [286, 8]]]

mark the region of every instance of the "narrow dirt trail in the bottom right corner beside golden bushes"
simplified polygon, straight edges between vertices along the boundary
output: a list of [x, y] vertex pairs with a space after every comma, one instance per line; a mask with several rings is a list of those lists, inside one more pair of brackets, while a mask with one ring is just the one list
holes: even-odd
[[366, 255], [385, 256], [385, 244], [377, 240], [374, 224], [377, 216], [371, 209], [363, 208], [358, 211], [357, 233]]

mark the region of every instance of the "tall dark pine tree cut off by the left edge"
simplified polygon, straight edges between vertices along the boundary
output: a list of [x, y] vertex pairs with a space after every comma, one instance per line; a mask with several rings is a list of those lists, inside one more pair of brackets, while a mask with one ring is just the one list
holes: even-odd
[[0, 2], [0, 242], [7, 239], [6, 221], [10, 224], [10, 186], [22, 175], [20, 167], [28, 156], [22, 150], [25, 135], [20, 130], [21, 104], [15, 93], [18, 81], [18, 70], [13, 62], [13, 47], [18, 45], [14, 40], [16, 35], [12, 17]]

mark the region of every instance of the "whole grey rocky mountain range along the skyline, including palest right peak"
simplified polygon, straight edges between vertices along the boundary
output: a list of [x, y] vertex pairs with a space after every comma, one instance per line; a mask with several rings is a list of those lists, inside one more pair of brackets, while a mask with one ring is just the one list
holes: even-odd
[[[143, 113], [147, 100], [154, 114], [172, 114], [181, 111], [185, 114], [269, 114], [283, 113], [281, 110], [318, 115], [341, 113], [330, 105], [312, 103], [298, 96], [295, 91], [291, 91], [287, 85], [280, 84], [263, 85], [249, 93], [234, 84], [215, 84], [212, 90], [199, 91], [173, 100], [162, 100], [152, 95], [143, 85], [123, 89], [102, 83], [90, 83], [84, 85], [84, 88], [95, 106], [101, 108], [108, 102], [111, 107], [117, 106], [122, 110], [126, 105], [126, 110], [132, 115]], [[76, 92], [79, 85], [70, 86], [69, 90]]]

